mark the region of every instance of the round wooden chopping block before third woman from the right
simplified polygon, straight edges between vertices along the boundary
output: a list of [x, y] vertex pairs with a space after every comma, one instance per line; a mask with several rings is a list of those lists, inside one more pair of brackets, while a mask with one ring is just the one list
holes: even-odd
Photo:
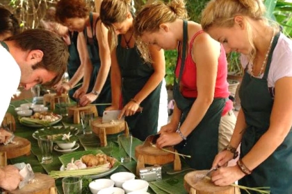
[[92, 121], [92, 132], [99, 136], [100, 129], [106, 129], [106, 134], [117, 134], [124, 131], [124, 121], [116, 120], [114, 123], [102, 123], [102, 118], [99, 117]]

